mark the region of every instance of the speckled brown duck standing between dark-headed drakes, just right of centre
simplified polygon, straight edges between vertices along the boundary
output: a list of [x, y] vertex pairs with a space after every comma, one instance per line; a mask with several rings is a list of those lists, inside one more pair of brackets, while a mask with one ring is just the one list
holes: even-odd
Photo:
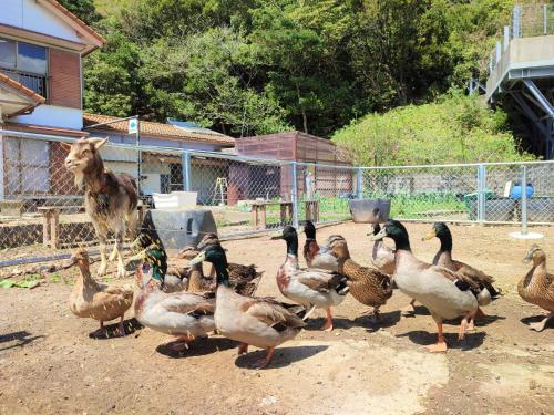
[[350, 294], [360, 303], [373, 308], [373, 319], [379, 321], [379, 308], [392, 295], [391, 277], [377, 267], [362, 267], [350, 258], [345, 238], [337, 236], [329, 249], [339, 259], [338, 272], [348, 279]]

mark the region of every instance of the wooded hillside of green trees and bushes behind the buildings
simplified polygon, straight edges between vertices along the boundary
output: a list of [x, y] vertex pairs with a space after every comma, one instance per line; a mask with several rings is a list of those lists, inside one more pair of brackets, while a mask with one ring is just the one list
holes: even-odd
[[[90, 0], [65, 3], [86, 9]], [[351, 127], [336, 139], [375, 165], [515, 159], [503, 114], [461, 96], [447, 98], [456, 111], [439, 102], [471, 76], [483, 81], [513, 3], [96, 0], [107, 45], [85, 64], [85, 107], [235, 136], [290, 128], [330, 136], [363, 114], [412, 104], [369, 115], [363, 134]], [[424, 102], [433, 102], [427, 112], [413, 106]]]

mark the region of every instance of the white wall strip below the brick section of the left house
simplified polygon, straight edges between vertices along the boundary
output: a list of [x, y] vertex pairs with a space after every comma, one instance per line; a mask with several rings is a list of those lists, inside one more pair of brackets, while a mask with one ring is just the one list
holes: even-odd
[[65, 106], [39, 105], [34, 108], [32, 114], [18, 115], [10, 118], [10, 122], [57, 128], [81, 129], [83, 127], [83, 112], [82, 110], [68, 108]]

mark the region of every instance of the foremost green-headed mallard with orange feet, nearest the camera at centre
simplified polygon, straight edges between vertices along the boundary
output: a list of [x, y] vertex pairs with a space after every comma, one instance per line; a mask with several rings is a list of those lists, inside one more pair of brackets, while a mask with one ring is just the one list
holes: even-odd
[[294, 339], [306, 323], [297, 315], [305, 308], [277, 302], [271, 298], [244, 297], [229, 287], [227, 257], [220, 245], [208, 245], [191, 261], [191, 266], [202, 261], [211, 262], [216, 271], [217, 291], [215, 325], [224, 336], [242, 344], [238, 354], [246, 353], [248, 345], [267, 349], [265, 359], [256, 363], [265, 367], [271, 360], [275, 347]]

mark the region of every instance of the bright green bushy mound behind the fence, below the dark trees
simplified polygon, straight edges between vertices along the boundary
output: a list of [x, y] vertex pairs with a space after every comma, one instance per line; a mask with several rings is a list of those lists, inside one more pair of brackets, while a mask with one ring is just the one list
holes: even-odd
[[356, 163], [370, 166], [532, 158], [516, 152], [505, 113], [455, 90], [429, 104], [367, 115], [332, 139], [349, 148]]

